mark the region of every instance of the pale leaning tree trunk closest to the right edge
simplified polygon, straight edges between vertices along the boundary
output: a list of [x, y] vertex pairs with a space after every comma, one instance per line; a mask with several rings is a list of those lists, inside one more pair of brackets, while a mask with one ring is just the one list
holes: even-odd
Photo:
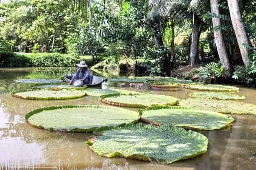
[[239, 9], [238, 0], [227, 0], [228, 7], [230, 10], [230, 18], [232, 21], [232, 25], [236, 34], [236, 40], [239, 44], [239, 49], [241, 52], [242, 59], [244, 61], [244, 65], [247, 65], [250, 61], [248, 58], [248, 48], [244, 48], [242, 45], [245, 44], [250, 46], [250, 41], [247, 37], [242, 16]]

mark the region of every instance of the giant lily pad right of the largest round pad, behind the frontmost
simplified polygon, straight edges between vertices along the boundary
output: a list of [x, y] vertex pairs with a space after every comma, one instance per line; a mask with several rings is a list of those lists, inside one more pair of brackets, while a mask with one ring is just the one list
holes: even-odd
[[212, 111], [179, 106], [152, 106], [139, 111], [141, 119], [154, 125], [173, 125], [193, 130], [215, 130], [230, 126], [235, 119]]

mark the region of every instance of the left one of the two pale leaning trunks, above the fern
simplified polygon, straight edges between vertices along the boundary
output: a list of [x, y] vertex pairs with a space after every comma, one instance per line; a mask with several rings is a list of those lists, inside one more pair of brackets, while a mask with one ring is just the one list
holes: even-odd
[[[219, 15], [219, 10], [217, 7], [218, 0], [210, 0], [210, 3], [211, 3], [212, 14], [215, 14], [216, 16], [218, 16]], [[214, 17], [212, 15], [212, 25], [213, 25], [213, 28], [216, 28], [216, 30], [214, 31], [214, 38], [215, 38], [218, 55], [221, 60], [221, 64], [225, 65], [225, 76], [227, 78], [231, 78], [233, 74], [233, 67], [231, 65], [230, 58], [227, 55], [227, 48], [225, 46], [222, 31], [218, 29], [218, 26], [221, 26], [221, 20], [218, 17]]]

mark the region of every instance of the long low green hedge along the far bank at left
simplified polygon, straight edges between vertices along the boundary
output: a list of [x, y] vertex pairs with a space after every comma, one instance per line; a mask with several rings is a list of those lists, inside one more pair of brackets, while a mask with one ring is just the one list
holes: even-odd
[[59, 53], [12, 53], [0, 51], [0, 67], [70, 67], [84, 60], [87, 65], [93, 65], [92, 56], [79, 58], [69, 54]]

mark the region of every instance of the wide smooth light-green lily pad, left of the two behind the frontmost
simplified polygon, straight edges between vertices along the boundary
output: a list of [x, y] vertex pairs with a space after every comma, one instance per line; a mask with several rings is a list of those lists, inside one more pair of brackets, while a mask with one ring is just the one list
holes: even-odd
[[41, 129], [64, 132], [92, 132], [98, 127], [137, 122], [139, 114], [121, 108], [98, 105], [66, 105], [35, 109], [26, 122]]

